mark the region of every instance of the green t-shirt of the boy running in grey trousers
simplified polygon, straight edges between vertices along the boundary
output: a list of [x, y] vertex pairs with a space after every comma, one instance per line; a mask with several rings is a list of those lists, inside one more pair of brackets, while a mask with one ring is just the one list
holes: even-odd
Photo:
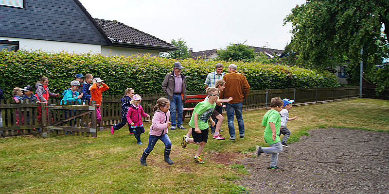
[[[273, 141], [271, 137], [273, 136], [273, 132], [270, 129], [270, 124], [269, 122], [272, 122], [276, 126], [276, 141]], [[280, 139], [280, 127], [281, 127], [281, 116], [280, 113], [274, 109], [271, 109], [267, 111], [264, 115], [264, 119], [262, 120], [262, 126], [265, 126], [265, 132], [264, 132], [264, 139], [265, 142], [268, 144], [275, 144], [279, 141]]]

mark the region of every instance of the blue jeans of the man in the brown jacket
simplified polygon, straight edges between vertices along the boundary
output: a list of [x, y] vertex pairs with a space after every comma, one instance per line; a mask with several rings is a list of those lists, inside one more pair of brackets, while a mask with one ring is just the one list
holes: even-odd
[[235, 137], [234, 113], [236, 114], [236, 120], [238, 120], [239, 136], [243, 136], [245, 134], [245, 124], [242, 117], [242, 102], [226, 103], [226, 111], [230, 136]]

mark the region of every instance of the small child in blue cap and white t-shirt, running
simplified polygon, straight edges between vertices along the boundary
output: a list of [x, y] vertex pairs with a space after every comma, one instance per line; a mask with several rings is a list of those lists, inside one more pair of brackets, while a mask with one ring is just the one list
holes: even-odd
[[281, 129], [280, 129], [280, 136], [283, 134], [283, 140], [281, 142], [281, 146], [283, 147], [289, 147], [286, 142], [288, 141], [288, 138], [290, 136], [290, 130], [286, 127], [286, 123], [291, 120], [295, 120], [299, 118], [298, 116], [295, 116], [293, 118], [289, 118], [289, 110], [292, 108], [292, 103], [295, 100], [290, 100], [288, 98], [283, 99], [283, 110], [280, 111], [281, 115]]

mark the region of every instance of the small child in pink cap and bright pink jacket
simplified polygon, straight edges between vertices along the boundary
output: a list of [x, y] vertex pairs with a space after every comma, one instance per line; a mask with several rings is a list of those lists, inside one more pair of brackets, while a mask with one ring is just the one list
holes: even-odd
[[143, 107], [141, 106], [141, 96], [138, 94], [134, 95], [131, 100], [131, 106], [127, 112], [127, 121], [133, 129], [135, 138], [137, 139], [137, 144], [143, 145], [141, 142], [141, 134], [144, 133], [142, 116], [147, 116], [150, 118], [150, 115], [144, 113]]

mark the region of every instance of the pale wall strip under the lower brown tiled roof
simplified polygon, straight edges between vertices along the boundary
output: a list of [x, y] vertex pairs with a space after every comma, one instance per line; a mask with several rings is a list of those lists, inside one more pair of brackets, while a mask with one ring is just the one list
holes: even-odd
[[145, 50], [145, 49], [131, 49], [131, 48], [122, 48], [122, 47], [110, 47], [110, 46], [101, 46], [101, 54], [110, 56], [110, 55], [124, 55], [124, 56], [133, 56], [138, 54], [151, 54], [153, 56], [159, 56], [158, 50]]

